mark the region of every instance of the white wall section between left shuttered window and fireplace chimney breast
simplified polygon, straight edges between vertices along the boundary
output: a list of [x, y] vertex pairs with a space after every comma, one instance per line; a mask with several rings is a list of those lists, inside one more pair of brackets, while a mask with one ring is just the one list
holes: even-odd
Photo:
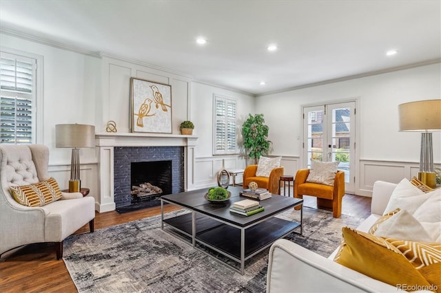
[[[55, 124], [95, 124], [101, 60], [7, 34], [0, 39], [3, 47], [43, 56], [43, 141], [38, 143], [50, 149], [50, 175], [68, 188], [71, 149], [55, 148]], [[96, 152], [81, 149], [80, 154], [82, 186], [96, 190]]]

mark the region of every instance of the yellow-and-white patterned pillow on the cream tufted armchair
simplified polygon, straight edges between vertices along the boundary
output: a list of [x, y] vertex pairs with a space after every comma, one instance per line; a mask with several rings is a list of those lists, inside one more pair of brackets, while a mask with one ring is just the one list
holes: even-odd
[[14, 199], [23, 206], [44, 206], [63, 196], [53, 177], [30, 185], [11, 186], [10, 190]]

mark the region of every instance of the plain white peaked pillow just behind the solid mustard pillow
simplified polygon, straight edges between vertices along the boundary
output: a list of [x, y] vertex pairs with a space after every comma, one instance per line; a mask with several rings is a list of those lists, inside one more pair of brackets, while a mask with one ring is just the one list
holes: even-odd
[[407, 210], [400, 210], [382, 222], [373, 235], [408, 241], [433, 242], [436, 240], [429, 235], [422, 224], [409, 214]]

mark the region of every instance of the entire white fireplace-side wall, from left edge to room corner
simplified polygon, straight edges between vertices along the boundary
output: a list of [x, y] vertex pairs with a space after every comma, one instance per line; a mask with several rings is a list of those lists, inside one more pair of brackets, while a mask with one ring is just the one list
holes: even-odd
[[[44, 135], [39, 143], [50, 149], [50, 172], [61, 188], [67, 188], [70, 177], [70, 149], [55, 148], [55, 124], [92, 124], [99, 133], [105, 131], [109, 120], [114, 120], [118, 132], [129, 133], [130, 77], [172, 85], [172, 133], [180, 133], [183, 120], [192, 120], [196, 125], [195, 155], [200, 168], [196, 168], [194, 178], [198, 186], [216, 184], [216, 173], [224, 158], [227, 168], [245, 167], [243, 157], [212, 155], [212, 100], [214, 94], [236, 98], [238, 116], [243, 121], [248, 113], [254, 113], [254, 97], [194, 83], [188, 76], [107, 54], [88, 56], [8, 34], [0, 37], [3, 47], [43, 56]], [[80, 156], [82, 186], [89, 187], [91, 194], [99, 192], [97, 151], [81, 149]]]

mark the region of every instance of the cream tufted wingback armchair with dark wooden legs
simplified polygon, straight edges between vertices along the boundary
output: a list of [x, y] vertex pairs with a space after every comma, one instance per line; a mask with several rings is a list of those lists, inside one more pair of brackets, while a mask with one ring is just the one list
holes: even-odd
[[81, 193], [45, 206], [23, 206], [15, 201], [10, 186], [47, 180], [49, 150], [41, 144], [0, 144], [0, 256], [25, 244], [54, 242], [57, 259], [63, 257], [63, 240], [89, 222], [94, 232], [95, 201]]

